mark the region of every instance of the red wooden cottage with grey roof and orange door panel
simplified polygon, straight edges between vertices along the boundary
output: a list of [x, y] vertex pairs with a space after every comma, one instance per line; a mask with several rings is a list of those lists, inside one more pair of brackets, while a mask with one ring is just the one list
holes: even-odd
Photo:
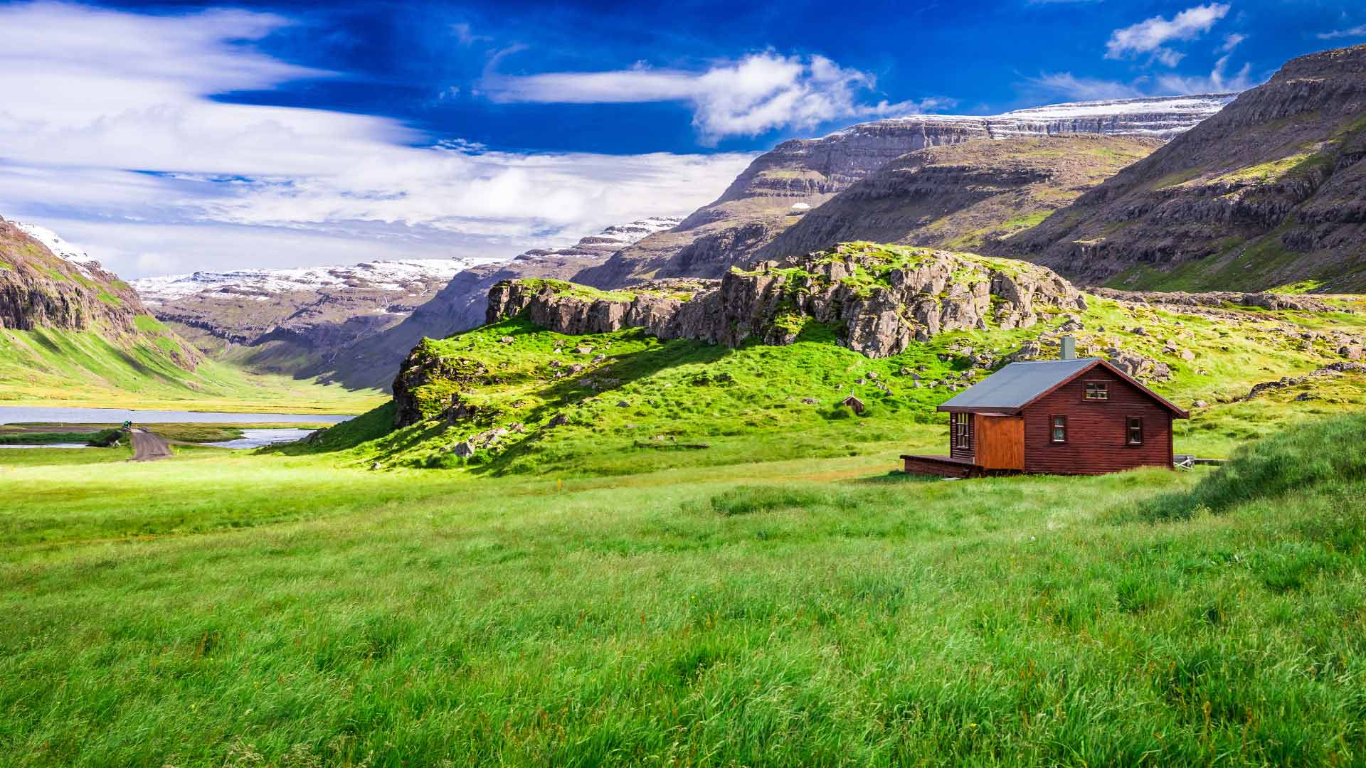
[[938, 407], [949, 455], [906, 471], [979, 477], [1104, 474], [1172, 466], [1172, 420], [1190, 414], [1100, 358], [1012, 362]]

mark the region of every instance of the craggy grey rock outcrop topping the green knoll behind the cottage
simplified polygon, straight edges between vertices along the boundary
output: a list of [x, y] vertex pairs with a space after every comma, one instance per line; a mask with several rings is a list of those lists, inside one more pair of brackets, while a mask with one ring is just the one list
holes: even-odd
[[[695, 292], [684, 301], [678, 294], [686, 290]], [[1085, 298], [1048, 269], [851, 243], [787, 265], [732, 271], [714, 287], [657, 282], [632, 295], [596, 295], [563, 283], [500, 283], [489, 294], [488, 321], [526, 316], [561, 333], [637, 327], [660, 339], [732, 347], [751, 339], [791, 344], [814, 321], [835, 325], [852, 350], [888, 357], [945, 331], [1027, 328], [1041, 312], [1085, 307]]]

